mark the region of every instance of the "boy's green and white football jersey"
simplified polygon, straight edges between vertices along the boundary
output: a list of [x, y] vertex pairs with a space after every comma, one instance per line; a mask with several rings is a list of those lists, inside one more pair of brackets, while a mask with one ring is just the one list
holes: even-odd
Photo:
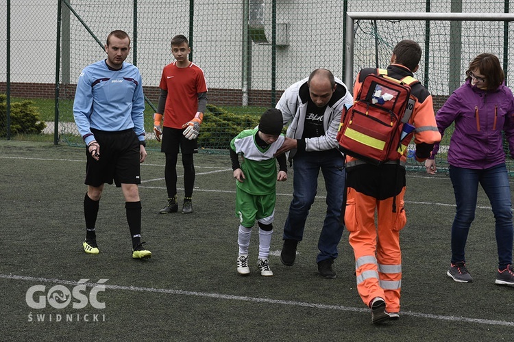
[[241, 170], [245, 174], [245, 181], [236, 181], [239, 189], [252, 195], [274, 194], [277, 183], [276, 158], [273, 155], [284, 144], [284, 135], [279, 135], [278, 140], [262, 149], [255, 142], [258, 127], [246, 129], [239, 133], [230, 142], [230, 148], [237, 154], [243, 155]]

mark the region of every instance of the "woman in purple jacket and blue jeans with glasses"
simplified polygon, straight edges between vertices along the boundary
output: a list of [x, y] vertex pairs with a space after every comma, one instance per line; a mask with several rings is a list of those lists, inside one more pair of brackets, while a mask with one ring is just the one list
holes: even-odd
[[[456, 282], [473, 281], [466, 269], [464, 253], [480, 184], [495, 217], [498, 246], [495, 283], [514, 285], [511, 189], [502, 145], [504, 131], [514, 157], [514, 97], [504, 85], [504, 73], [495, 55], [476, 56], [466, 76], [465, 83], [452, 93], [436, 115], [441, 135], [455, 122], [448, 163], [457, 208], [452, 224], [452, 260], [446, 274]], [[436, 172], [434, 157], [438, 150], [439, 144], [435, 144], [432, 156], [425, 162], [429, 174]]]

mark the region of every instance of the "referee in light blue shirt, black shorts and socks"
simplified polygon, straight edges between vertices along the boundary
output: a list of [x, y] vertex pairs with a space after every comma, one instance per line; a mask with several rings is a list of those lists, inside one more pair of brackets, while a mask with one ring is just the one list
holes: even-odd
[[105, 45], [107, 58], [80, 73], [73, 116], [87, 146], [84, 197], [86, 240], [84, 252], [98, 254], [95, 225], [105, 183], [121, 187], [132, 236], [132, 258], [147, 259], [151, 252], [141, 243], [140, 163], [147, 157], [143, 111], [145, 99], [136, 66], [125, 63], [130, 38], [112, 31]]

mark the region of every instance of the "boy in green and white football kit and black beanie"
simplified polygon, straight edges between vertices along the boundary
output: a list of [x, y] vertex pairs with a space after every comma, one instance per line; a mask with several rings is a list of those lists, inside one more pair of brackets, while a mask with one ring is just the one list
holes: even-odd
[[[269, 248], [275, 217], [276, 181], [287, 180], [286, 155], [274, 157], [284, 143], [282, 113], [268, 109], [258, 127], [246, 129], [230, 142], [230, 159], [236, 179], [236, 216], [239, 218], [237, 272], [248, 275], [248, 246], [255, 220], [259, 226], [257, 266], [262, 276], [273, 276]], [[243, 156], [240, 164], [238, 154]], [[277, 172], [276, 160], [280, 170]]]

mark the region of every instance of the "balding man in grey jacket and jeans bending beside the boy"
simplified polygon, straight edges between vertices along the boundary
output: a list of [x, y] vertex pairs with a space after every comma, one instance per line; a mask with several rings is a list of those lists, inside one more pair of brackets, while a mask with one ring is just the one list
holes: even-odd
[[282, 111], [284, 124], [289, 124], [286, 140], [277, 154], [289, 151], [294, 172], [293, 200], [284, 224], [280, 260], [288, 266], [295, 262], [297, 244], [304, 235], [321, 169], [327, 191], [327, 211], [316, 262], [324, 278], [336, 278], [332, 263], [338, 255], [337, 245], [343, 234], [339, 216], [345, 187], [345, 159], [337, 149], [336, 135], [343, 106], [352, 103], [352, 94], [345, 84], [330, 70], [319, 68], [287, 88], [276, 105]]

